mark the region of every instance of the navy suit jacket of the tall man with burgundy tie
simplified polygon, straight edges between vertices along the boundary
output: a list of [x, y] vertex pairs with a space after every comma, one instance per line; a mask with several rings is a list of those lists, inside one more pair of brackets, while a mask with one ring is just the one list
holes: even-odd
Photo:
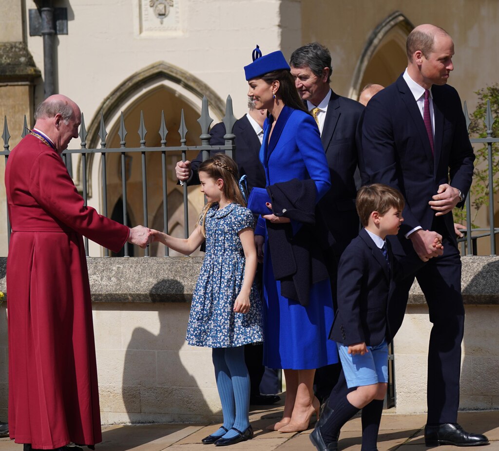
[[[475, 155], [459, 95], [449, 85], [433, 85], [432, 94], [434, 155], [423, 117], [402, 75], [378, 92], [365, 109], [362, 126], [365, 172], [370, 183], [391, 185], [404, 195], [405, 221], [400, 227], [400, 240], [405, 240], [404, 235], [416, 226], [432, 229], [435, 212], [428, 202], [439, 185], [449, 183], [466, 197], [472, 182]], [[444, 215], [443, 221], [447, 237], [457, 246], [452, 213]], [[398, 250], [394, 247], [396, 253]]]

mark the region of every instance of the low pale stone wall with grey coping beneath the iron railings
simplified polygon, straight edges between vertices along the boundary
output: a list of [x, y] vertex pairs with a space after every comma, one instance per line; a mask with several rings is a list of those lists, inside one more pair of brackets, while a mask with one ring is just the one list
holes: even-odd
[[[463, 257], [466, 330], [461, 409], [499, 407], [499, 257]], [[0, 289], [5, 291], [5, 258]], [[221, 418], [210, 349], [185, 343], [201, 258], [88, 258], [103, 424]], [[7, 293], [8, 297], [8, 293]], [[0, 421], [7, 409], [6, 303], [0, 308]], [[411, 291], [394, 342], [397, 412], [426, 410], [431, 323]]]

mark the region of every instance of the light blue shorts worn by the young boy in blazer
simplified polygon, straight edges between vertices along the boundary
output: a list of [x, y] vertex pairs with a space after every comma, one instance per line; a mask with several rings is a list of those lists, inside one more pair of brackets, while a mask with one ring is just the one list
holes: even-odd
[[348, 388], [388, 382], [388, 344], [368, 346], [369, 352], [348, 354], [348, 346], [336, 343]]

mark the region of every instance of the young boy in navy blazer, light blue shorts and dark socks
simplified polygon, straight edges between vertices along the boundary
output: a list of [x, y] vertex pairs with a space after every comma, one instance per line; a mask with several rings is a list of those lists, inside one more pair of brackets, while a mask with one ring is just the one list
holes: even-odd
[[[337, 450], [341, 427], [363, 408], [362, 451], [376, 450], [388, 382], [388, 343], [393, 338], [387, 308], [394, 280], [408, 275], [385, 238], [398, 233], [404, 205], [402, 194], [387, 185], [364, 186], [357, 193], [364, 228], [341, 255], [338, 311], [329, 336], [338, 346], [348, 388], [356, 389], [339, 399], [310, 435], [319, 451]], [[437, 239], [434, 246], [442, 248]]]

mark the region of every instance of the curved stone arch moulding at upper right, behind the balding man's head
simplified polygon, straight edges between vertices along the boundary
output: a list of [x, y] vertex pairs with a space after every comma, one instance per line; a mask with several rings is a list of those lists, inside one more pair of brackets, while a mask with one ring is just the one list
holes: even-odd
[[[383, 39], [387, 37], [390, 32], [398, 29], [400, 32], [407, 36], [414, 25], [412, 22], [400, 11], [394, 11], [388, 15], [384, 20], [382, 20], [376, 28], [372, 31], [367, 42], [362, 50], [357, 65], [355, 66], [352, 84], [350, 86], [350, 92], [348, 97], [351, 99], [357, 99], [359, 92], [362, 89], [361, 83], [364, 76], [364, 72], [374, 56], [376, 50], [379, 48]], [[376, 81], [373, 81], [376, 83]]]

